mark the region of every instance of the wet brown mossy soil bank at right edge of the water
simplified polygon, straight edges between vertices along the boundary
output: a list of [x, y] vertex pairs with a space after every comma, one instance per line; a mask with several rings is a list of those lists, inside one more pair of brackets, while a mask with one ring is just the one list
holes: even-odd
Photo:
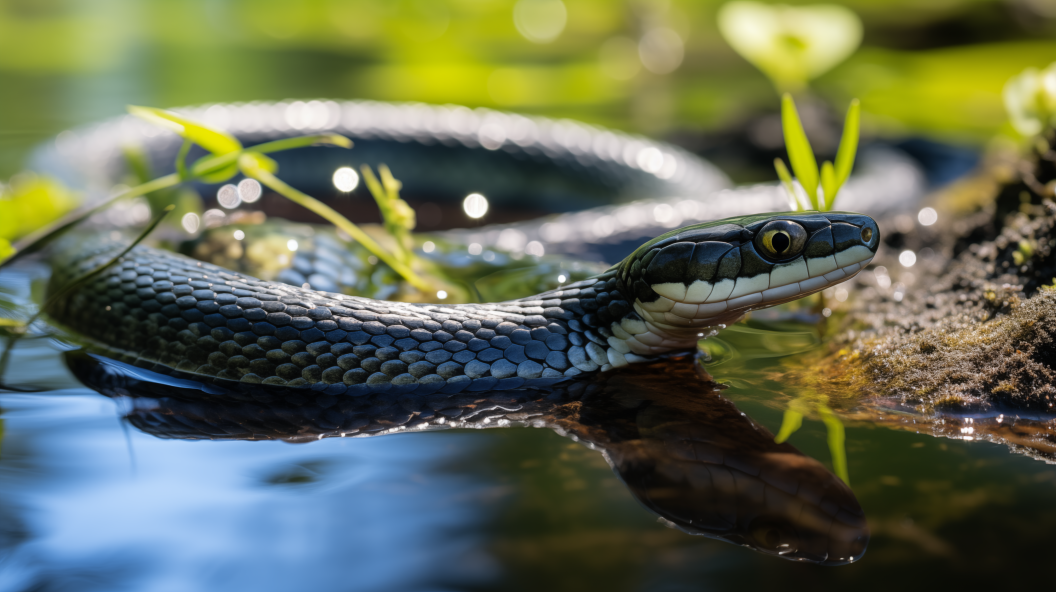
[[992, 159], [936, 196], [934, 226], [882, 221], [887, 248], [831, 320], [823, 382], [932, 417], [1056, 417], [1051, 157]]

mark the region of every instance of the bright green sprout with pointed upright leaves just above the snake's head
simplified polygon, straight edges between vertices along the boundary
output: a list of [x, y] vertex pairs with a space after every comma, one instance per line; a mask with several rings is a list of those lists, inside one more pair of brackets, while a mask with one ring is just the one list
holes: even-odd
[[[836, 163], [826, 160], [817, 168], [814, 150], [810, 147], [807, 133], [799, 121], [792, 95], [785, 93], [781, 98], [781, 128], [785, 132], [785, 149], [789, 154], [789, 163], [799, 182], [797, 188], [792, 183], [792, 175], [780, 158], [774, 159], [774, 168], [781, 179], [789, 196], [789, 207], [793, 211], [818, 210], [827, 212], [835, 204], [840, 188], [847, 183], [854, 168], [854, 155], [857, 153], [859, 127], [861, 125], [862, 107], [857, 99], [851, 101], [844, 121], [844, 134], [840, 138], [836, 150]], [[822, 194], [818, 195], [818, 187]]]

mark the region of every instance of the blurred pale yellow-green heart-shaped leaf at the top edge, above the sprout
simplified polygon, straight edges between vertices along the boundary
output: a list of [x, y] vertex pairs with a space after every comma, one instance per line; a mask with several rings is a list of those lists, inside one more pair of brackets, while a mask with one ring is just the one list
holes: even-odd
[[803, 90], [862, 42], [861, 19], [835, 4], [728, 2], [719, 9], [718, 25], [727, 43], [782, 92]]

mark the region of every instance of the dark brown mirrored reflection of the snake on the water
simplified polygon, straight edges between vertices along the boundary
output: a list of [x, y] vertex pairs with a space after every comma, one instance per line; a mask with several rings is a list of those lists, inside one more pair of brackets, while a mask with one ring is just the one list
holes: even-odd
[[131, 398], [139, 429], [177, 439], [305, 442], [401, 431], [531, 425], [600, 450], [631, 494], [665, 521], [796, 561], [842, 565], [869, 534], [850, 488], [741, 414], [685, 360], [580, 376], [542, 388], [335, 397], [173, 380], [80, 351], [84, 384]]

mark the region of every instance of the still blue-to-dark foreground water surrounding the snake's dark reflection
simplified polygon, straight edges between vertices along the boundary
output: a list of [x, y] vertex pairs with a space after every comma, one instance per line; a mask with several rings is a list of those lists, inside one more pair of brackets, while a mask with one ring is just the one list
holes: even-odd
[[[0, 300], [29, 289], [0, 275]], [[4, 380], [45, 390], [0, 394], [4, 592], [891, 590], [997, 586], [1008, 566], [1051, 579], [1056, 471], [1003, 445], [849, 421], [872, 538], [861, 561], [823, 568], [658, 523], [602, 451], [550, 429], [158, 439], [125, 424], [125, 403], [76, 383], [61, 349], [20, 342]], [[760, 370], [771, 359], [748, 358], [714, 371], [776, 431], [780, 385]], [[827, 461], [819, 422], [792, 442]]]

